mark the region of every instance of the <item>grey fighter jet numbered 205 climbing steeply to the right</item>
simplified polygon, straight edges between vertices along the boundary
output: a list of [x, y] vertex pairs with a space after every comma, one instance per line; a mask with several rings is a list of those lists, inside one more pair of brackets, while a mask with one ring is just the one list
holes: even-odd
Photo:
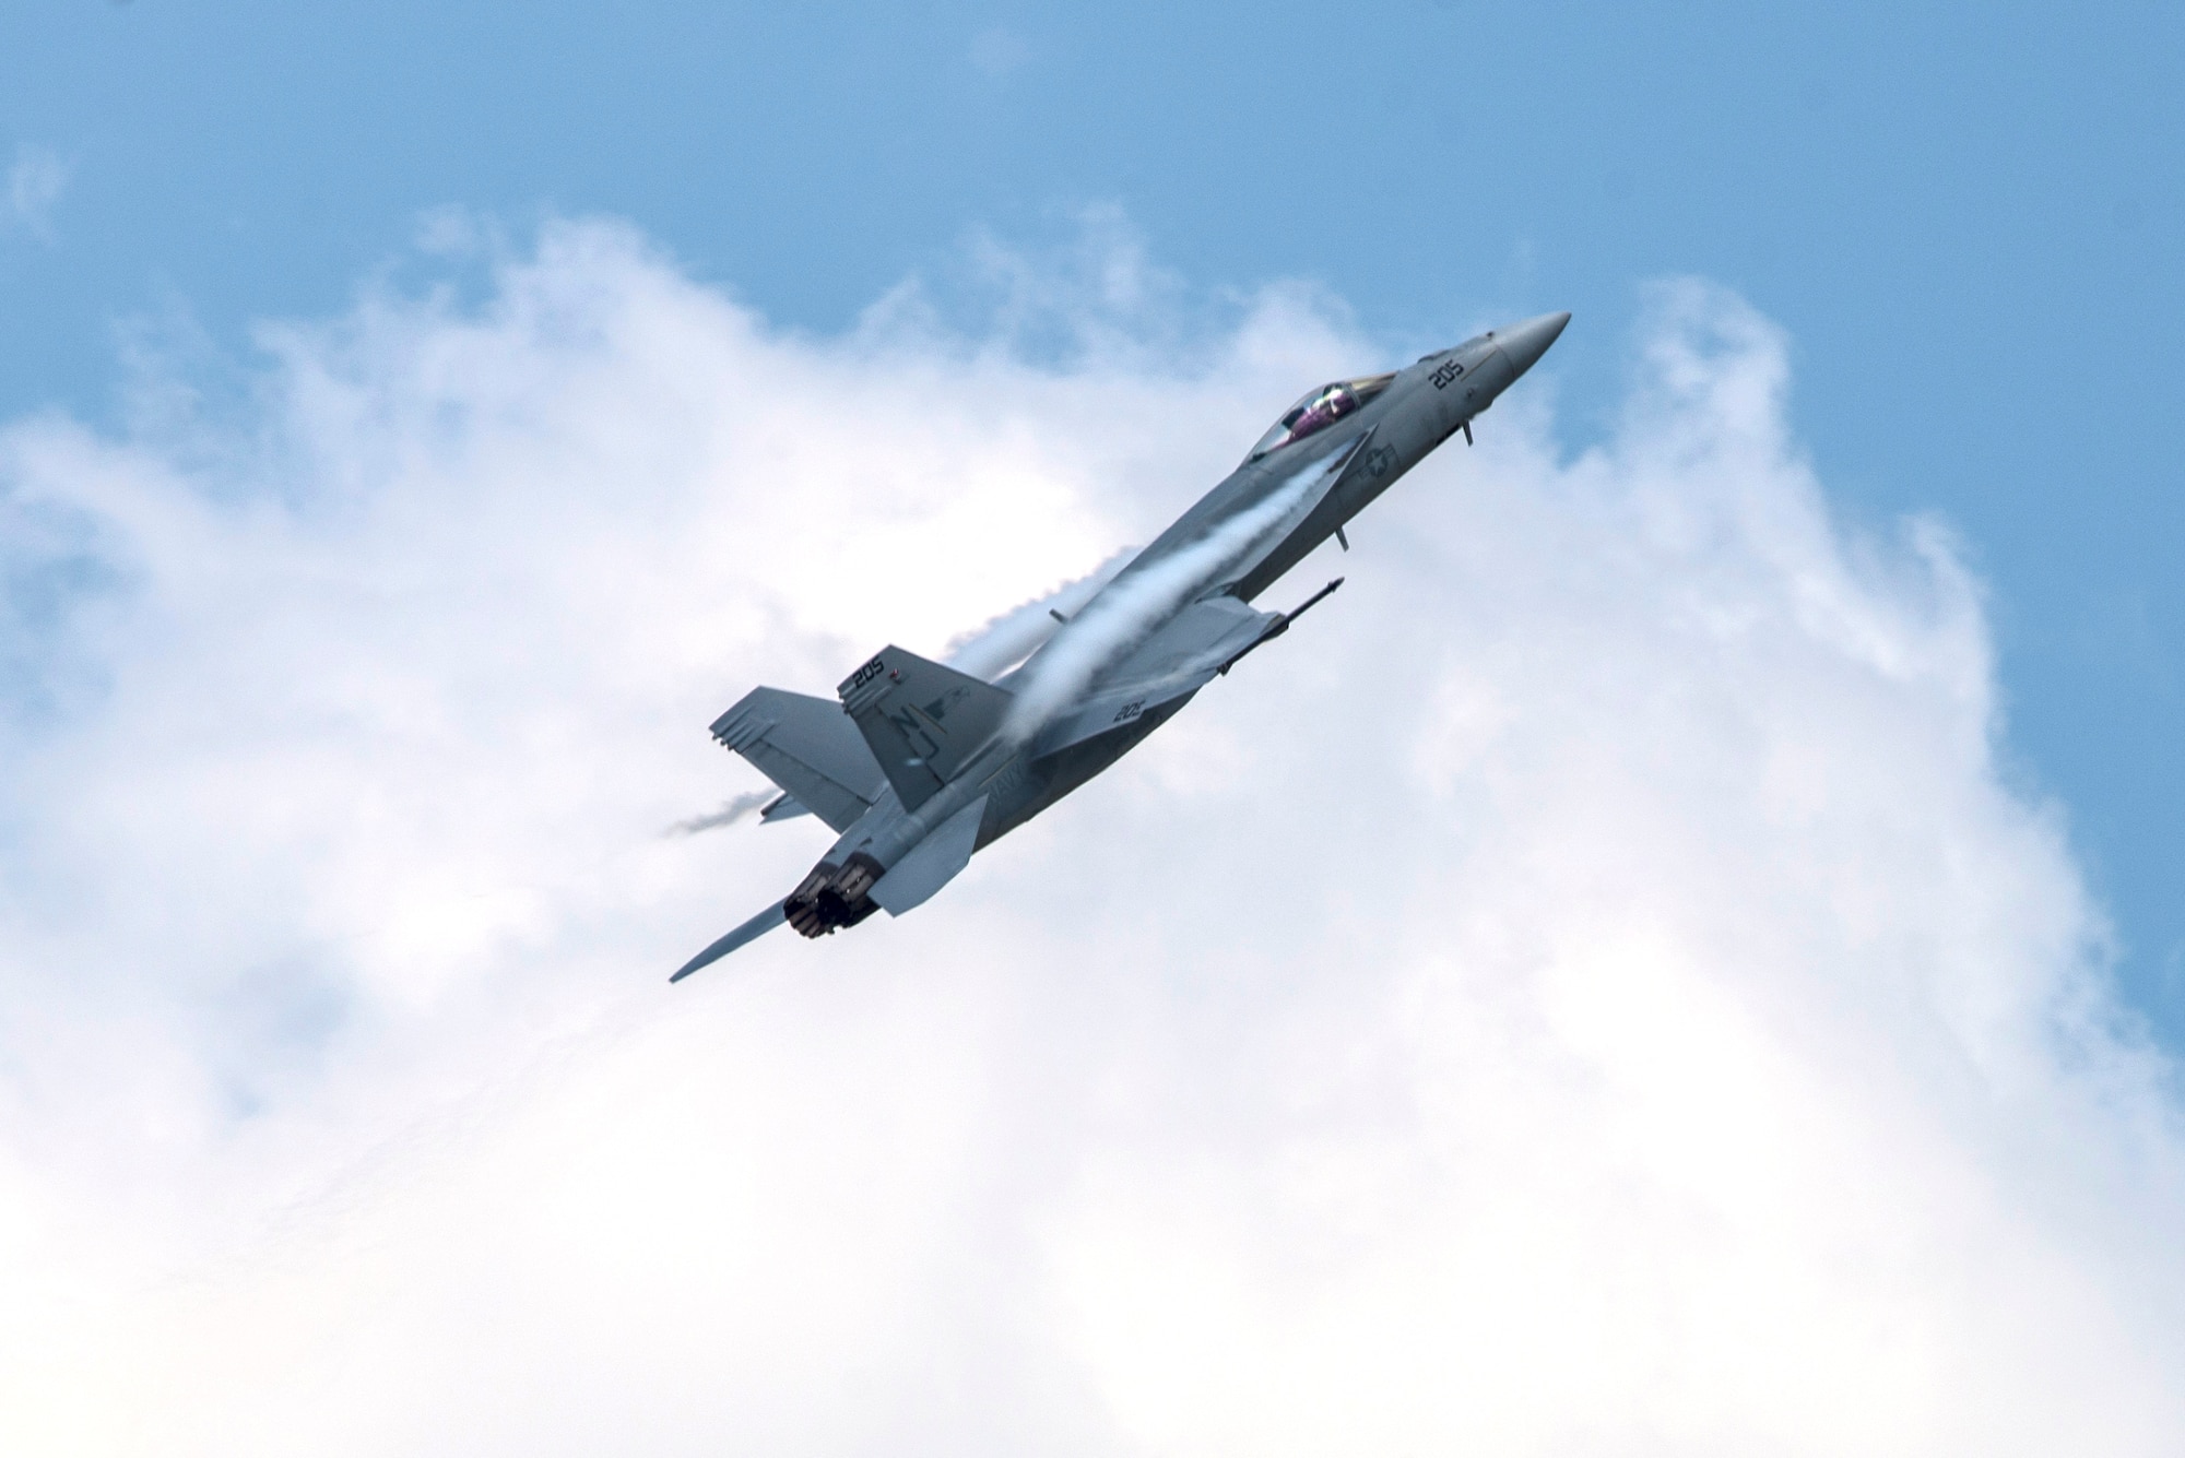
[[835, 698], [756, 688], [712, 722], [782, 797], [765, 821], [815, 814], [832, 849], [787, 897], [693, 956], [671, 982], [793, 925], [828, 936], [900, 917], [985, 849], [1130, 753], [1241, 657], [1342, 585], [1287, 613], [1269, 585], [1464, 432], [1562, 334], [1569, 314], [1488, 330], [1409, 369], [1298, 399], [1243, 463], [1051, 635], [990, 679], [881, 648]]

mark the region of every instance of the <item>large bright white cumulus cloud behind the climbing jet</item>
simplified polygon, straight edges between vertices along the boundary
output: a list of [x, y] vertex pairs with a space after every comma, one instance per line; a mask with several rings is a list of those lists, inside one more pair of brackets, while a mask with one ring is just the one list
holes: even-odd
[[9, 1447], [2176, 1449], [2168, 1069], [1977, 583], [1831, 519], [1737, 299], [931, 906], [669, 989], [824, 845], [658, 834], [763, 790], [721, 707], [1379, 351], [815, 340], [599, 223], [450, 297], [0, 432]]

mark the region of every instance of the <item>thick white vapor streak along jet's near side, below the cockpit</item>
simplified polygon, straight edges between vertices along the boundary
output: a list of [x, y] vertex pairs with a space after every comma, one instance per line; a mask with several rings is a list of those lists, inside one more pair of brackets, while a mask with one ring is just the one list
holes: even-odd
[[1029, 740], [1075, 701], [1103, 668], [1145, 642], [1178, 607], [1213, 587], [1267, 533], [1283, 526], [1328, 471], [1348, 456], [1335, 452], [1296, 471], [1250, 511], [1226, 519], [1191, 546], [1162, 557], [1145, 572], [1125, 572], [1055, 633], [1047, 650], [1012, 685], [1005, 733]]

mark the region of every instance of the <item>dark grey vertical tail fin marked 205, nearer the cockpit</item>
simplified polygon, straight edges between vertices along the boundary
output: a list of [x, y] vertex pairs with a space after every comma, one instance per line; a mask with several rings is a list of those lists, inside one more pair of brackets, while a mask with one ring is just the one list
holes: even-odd
[[948, 784], [1009, 716], [1007, 690], [896, 646], [837, 692], [907, 810]]

